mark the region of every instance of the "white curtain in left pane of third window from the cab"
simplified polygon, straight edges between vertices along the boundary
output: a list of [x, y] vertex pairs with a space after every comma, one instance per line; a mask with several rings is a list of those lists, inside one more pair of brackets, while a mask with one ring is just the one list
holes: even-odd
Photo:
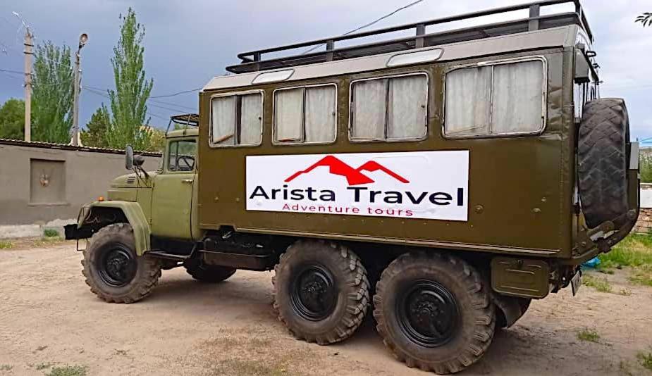
[[353, 84], [354, 139], [384, 139], [387, 79]]

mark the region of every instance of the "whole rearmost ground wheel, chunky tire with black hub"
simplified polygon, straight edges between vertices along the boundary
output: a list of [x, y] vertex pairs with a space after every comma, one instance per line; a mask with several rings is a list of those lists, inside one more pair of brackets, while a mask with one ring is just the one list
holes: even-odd
[[376, 285], [376, 329], [407, 364], [438, 374], [460, 372], [488, 349], [496, 312], [479, 273], [459, 258], [405, 254]]

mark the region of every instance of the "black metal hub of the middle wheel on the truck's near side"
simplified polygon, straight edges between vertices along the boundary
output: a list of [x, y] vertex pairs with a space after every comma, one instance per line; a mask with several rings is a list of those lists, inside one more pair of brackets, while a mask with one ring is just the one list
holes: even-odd
[[336, 306], [333, 275], [321, 265], [306, 265], [296, 275], [290, 294], [293, 308], [306, 320], [324, 320]]

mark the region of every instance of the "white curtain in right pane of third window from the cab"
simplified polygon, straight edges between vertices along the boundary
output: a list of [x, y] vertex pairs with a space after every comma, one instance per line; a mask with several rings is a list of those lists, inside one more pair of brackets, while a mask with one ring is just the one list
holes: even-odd
[[389, 83], [388, 139], [423, 137], [426, 132], [426, 76], [395, 77]]

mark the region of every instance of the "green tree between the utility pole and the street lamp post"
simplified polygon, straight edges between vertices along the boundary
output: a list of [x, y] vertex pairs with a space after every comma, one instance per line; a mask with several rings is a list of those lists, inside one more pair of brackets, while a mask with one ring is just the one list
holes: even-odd
[[73, 126], [70, 47], [47, 41], [36, 47], [34, 56], [32, 139], [68, 144]]

